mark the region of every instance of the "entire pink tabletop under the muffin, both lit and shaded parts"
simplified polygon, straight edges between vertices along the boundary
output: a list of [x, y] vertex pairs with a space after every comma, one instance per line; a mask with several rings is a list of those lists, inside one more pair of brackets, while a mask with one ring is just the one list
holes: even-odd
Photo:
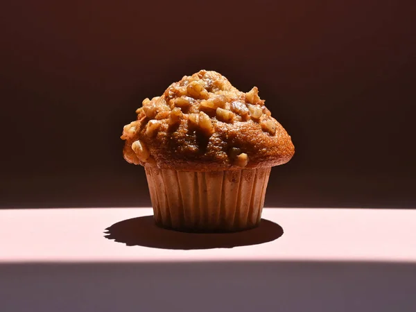
[[235, 234], [151, 214], [1, 210], [0, 311], [416, 311], [414, 210], [268, 208]]

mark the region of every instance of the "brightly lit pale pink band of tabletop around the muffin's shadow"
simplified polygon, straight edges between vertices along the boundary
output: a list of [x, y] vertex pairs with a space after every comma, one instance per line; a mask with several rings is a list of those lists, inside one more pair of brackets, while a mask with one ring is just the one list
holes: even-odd
[[[416, 262], [416, 211], [264, 209], [284, 234], [269, 243], [206, 250], [126, 246], [105, 239], [121, 220], [148, 208], [0, 211], [0, 263], [113, 261], [406, 261]], [[187, 234], [184, 234], [187, 235]]]

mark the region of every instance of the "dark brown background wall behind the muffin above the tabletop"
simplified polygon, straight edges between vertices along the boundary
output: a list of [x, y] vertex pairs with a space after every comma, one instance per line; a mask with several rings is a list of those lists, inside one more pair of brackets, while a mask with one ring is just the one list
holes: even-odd
[[266, 205], [416, 207], [413, 1], [8, 2], [1, 207], [150, 205], [119, 135], [199, 69], [257, 85], [293, 137]]

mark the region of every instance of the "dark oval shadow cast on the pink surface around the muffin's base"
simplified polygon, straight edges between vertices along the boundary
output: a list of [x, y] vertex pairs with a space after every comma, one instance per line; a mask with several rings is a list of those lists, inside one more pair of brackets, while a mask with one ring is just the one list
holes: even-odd
[[234, 233], [184, 233], [155, 225], [153, 216], [143, 216], [114, 223], [105, 238], [128, 246], [192, 250], [233, 248], [274, 241], [283, 235], [280, 225], [261, 219], [259, 227]]

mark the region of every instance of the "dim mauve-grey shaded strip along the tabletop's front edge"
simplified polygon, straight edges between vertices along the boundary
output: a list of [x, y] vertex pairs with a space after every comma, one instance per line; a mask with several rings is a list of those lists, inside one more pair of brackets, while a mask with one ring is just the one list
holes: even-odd
[[0, 263], [1, 311], [416, 311], [416, 263], [164, 260]]

